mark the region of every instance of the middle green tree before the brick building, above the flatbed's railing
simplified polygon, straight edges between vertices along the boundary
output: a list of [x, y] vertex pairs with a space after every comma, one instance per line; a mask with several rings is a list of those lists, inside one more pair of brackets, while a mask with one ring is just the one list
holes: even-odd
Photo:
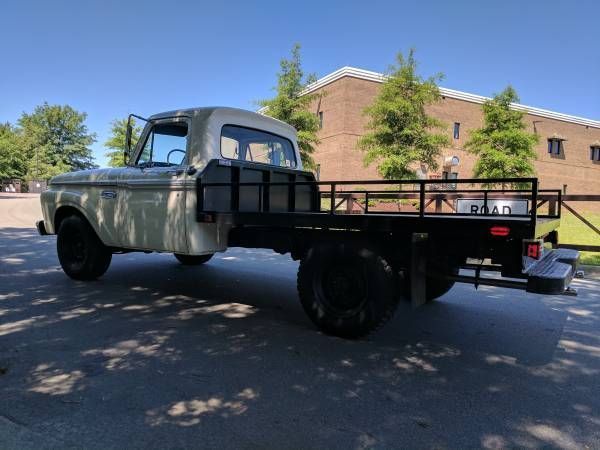
[[437, 83], [442, 75], [418, 75], [413, 49], [396, 59], [375, 101], [365, 109], [369, 123], [358, 147], [365, 152], [365, 166], [376, 163], [383, 178], [410, 179], [418, 165], [437, 170], [450, 139], [443, 132], [445, 124], [425, 112], [440, 99]]

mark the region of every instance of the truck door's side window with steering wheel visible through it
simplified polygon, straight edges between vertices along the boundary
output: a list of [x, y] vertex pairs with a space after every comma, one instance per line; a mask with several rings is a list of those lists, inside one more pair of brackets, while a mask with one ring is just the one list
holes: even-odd
[[181, 165], [187, 149], [187, 136], [188, 126], [185, 122], [154, 125], [136, 164], [151, 167]]

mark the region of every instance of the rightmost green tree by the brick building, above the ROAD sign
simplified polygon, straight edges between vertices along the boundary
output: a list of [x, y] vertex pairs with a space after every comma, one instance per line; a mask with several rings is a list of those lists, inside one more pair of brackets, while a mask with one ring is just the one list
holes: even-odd
[[[512, 86], [483, 104], [483, 127], [471, 132], [465, 144], [477, 155], [477, 178], [516, 178], [535, 175], [533, 161], [539, 137], [525, 130], [524, 112], [511, 109], [519, 101]], [[519, 183], [516, 183], [519, 186]]]

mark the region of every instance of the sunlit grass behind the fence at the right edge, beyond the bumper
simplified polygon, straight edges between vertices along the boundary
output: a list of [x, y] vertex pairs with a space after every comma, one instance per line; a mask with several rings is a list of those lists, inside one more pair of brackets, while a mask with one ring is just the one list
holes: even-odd
[[[573, 208], [595, 227], [600, 228], [600, 214], [586, 213]], [[561, 212], [560, 228], [558, 229], [558, 242], [561, 244], [600, 245], [600, 236], [584, 224], [581, 220], [567, 211]], [[600, 253], [581, 252], [581, 264], [600, 266]]]

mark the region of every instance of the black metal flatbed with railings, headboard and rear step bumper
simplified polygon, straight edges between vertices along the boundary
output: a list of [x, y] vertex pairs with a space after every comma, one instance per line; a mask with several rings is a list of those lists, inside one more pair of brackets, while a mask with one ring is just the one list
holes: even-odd
[[[257, 173], [262, 181], [247, 181], [255, 180]], [[280, 181], [286, 177], [290, 180]], [[319, 245], [360, 242], [375, 247], [402, 274], [403, 292], [415, 307], [456, 281], [544, 294], [574, 293], [569, 284], [578, 252], [552, 248], [558, 242], [560, 206], [545, 214], [537, 209], [539, 195], [554, 197], [560, 205], [561, 191], [539, 190], [535, 178], [452, 180], [449, 186], [448, 180], [316, 181], [311, 177], [248, 162], [213, 161], [198, 177], [197, 220], [229, 227], [230, 246], [271, 248], [299, 260]], [[479, 188], [515, 183], [520, 188]], [[359, 211], [331, 207], [349, 193], [362, 196], [366, 207]], [[449, 198], [473, 196], [481, 197], [484, 209], [498, 199], [526, 201], [528, 208], [514, 215], [439, 208], [442, 202], [449, 204]], [[416, 210], [369, 208], [370, 202], [380, 199], [412, 200]], [[467, 263], [473, 258], [480, 264]], [[461, 275], [462, 268], [474, 270], [475, 275]], [[484, 270], [497, 271], [501, 277], [484, 278]], [[436, 288], [428, 295], [427, 287], [432, 285]]]

